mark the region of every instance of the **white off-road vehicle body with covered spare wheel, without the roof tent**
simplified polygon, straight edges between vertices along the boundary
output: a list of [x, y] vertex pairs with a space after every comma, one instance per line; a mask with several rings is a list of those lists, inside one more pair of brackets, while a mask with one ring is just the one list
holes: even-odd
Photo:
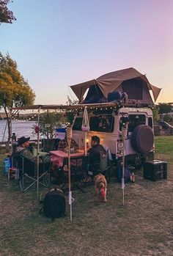
[[[101, 106], [102, 104], [100, 104]], [[93, 105], [92, 105], [93, 106]], [[121, 161], [125, 153], [128, 164], [138, 167], [142, 161], [152, 160], [154, 156], [154, 134], [152, 110], [150, 108], [134, 108], [106, 106], [89, 109], [89, 131], [87, 131], [87, 147], [91, 137], [100, 137], [100, 144], [110, 150], [113, 161]], [[128, 122], [125, 148], [122, 141], [122, 127]], [[83, 111], [76, 114], [73, 121], [73, 139], [84, 148], [85, 131], [82, 131]]]

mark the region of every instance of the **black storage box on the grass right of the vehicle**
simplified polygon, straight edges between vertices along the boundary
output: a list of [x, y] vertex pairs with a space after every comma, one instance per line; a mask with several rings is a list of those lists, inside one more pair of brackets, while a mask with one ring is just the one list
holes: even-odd
[[162, 180], [167, 178], [167, 163], [160, 160], [148, 161], [144, 164], [144, 179]]

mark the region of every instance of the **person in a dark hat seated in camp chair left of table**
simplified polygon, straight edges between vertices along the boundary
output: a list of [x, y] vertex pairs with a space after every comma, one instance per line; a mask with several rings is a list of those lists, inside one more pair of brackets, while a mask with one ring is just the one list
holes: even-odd
[[[26, 160], [26, 163], [29, 164], [33, 164], [34, 165], [34, 169], [37, 169], [37, 156], [34, 156], [32, 151], [29, 150], [29, 139], [30, 137], [24, 137], [22, 136], [20, 139], [18, 139], [18, 147], [16, 150], [16, 153], [13, 155], [14, 157], [18, 158], [18, 157], [22, 157], [24, 158], [24, 160]], [[46, 155], [46, 156], [41, 156], [39, 158], [39, 163], [40, 164], [46, 164], [46, 167], [50, 167], [51, 164], [51, 158], [50, 156]], [[34, 170], [33, 170], [34, 172]], [[33, 173], [31, 173], [33, 174]]]

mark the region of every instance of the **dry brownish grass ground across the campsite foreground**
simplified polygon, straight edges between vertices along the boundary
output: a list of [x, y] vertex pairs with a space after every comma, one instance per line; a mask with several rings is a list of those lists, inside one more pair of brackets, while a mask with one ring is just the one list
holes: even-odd
[[[89, 186], [73, 191], [73, 222], [40, 216], [36, 190], [21, 193], [15, 180], [0, 174], [0, 255], [173, 255], [173, 136], [155, 138], [155, 158], [168, 161], [168, 179], [144, 180], [122, 189], [112, 178], [108, 202]], [[0, 156], [1, 160], [4, 158]], [[40, 196], [48, 189], [40, 188]]]

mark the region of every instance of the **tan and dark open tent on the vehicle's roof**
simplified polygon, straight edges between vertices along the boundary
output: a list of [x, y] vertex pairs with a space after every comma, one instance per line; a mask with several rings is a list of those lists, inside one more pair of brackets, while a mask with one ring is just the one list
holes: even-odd
[[[137, 100], [139, 103], [152, 105], [150, 90], [152, 90], [154, 100], [157, 100], [161, 91], [153, 86], [133, 67], [124, 70], [117, 70], [91, 81], [70, 86], [78, 97], [80, 103], [101, 103], [106, 102], [109, 92], [126, 92], [129, 100]], [[84, 93], [89, 88], [85, 99]]]

